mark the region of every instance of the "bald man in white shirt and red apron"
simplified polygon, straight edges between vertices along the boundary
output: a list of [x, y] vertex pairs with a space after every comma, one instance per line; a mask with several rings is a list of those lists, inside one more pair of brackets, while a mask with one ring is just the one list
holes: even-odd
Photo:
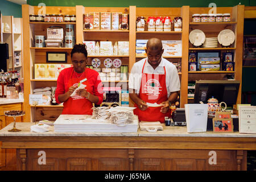
[[[147, 57], [135, 63], [129, 76], [129, 96], [139, 121], [160, 121], [171, 117], [170, 104], [176, 101], [180, 80], [174, 64], [162, 57], [161, 40], [151, 38], [145, 49]], [[152, 107], [147, 104], [158, 104]], [[148, 106], [150, 105], [150, 106]]]

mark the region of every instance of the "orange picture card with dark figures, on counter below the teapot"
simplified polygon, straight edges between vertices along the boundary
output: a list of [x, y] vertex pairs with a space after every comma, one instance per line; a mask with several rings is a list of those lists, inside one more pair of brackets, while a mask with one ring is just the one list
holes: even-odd
[[222, 118], [213, 118], [213, 132], [215, 133], [233, 133], [233, 119], [222, 119]]

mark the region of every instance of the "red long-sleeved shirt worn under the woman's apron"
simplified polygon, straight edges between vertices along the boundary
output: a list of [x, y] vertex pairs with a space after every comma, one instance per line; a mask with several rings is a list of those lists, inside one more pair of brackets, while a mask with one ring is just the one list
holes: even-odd
[[[68, 92], [68, 81], [71, 77], [73, 68], [65, 68], [63, 71], [60, 72], [59, 77], [57, 78], [57, 88], [55, 90], [55, 99], [57, 103], [59, 102], [59, 95], [64, 94]], [[97, 105], [100, 105], [103, 101], [103, 92], [102, 92], [102, 82], [100, 75], [98, 75], [98, 72], [94, 71], [93, 69], [86, 68], [85, 69], [86, 78], [89, 81], [90, 85], [93, 86], [93, 94], [94, 96], [98, 97]], [[73, 73], [72, 78], [76, 78], [76, 76], [81, 76], [82, 73]]]

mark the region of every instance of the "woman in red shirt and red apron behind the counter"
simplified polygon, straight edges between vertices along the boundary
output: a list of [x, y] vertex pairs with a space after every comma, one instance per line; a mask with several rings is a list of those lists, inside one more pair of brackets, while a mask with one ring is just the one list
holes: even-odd
[[[87, 54], [85, 45], [75, 45], [71, 51], [73, 67], [63, 69], [57, 78], [55, 98], [57, 103], [64, 102], [62, 114], [92, 115], [92, 104], [100, 105], [103, 101], [98, 72], [86, 68]], [[75, 96], [71, 96], [80, 82], [86, 85], [85, 89], [79, 89]]]

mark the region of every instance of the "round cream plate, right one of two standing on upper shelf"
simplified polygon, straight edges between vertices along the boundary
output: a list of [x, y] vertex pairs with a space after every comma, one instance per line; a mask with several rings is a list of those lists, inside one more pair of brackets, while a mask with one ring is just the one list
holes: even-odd
[[218, 43], [222, 46], [230, 46], [230, 44], [234, 43], [235, 34], [230, 29], [224, 29], [218, 34]]

